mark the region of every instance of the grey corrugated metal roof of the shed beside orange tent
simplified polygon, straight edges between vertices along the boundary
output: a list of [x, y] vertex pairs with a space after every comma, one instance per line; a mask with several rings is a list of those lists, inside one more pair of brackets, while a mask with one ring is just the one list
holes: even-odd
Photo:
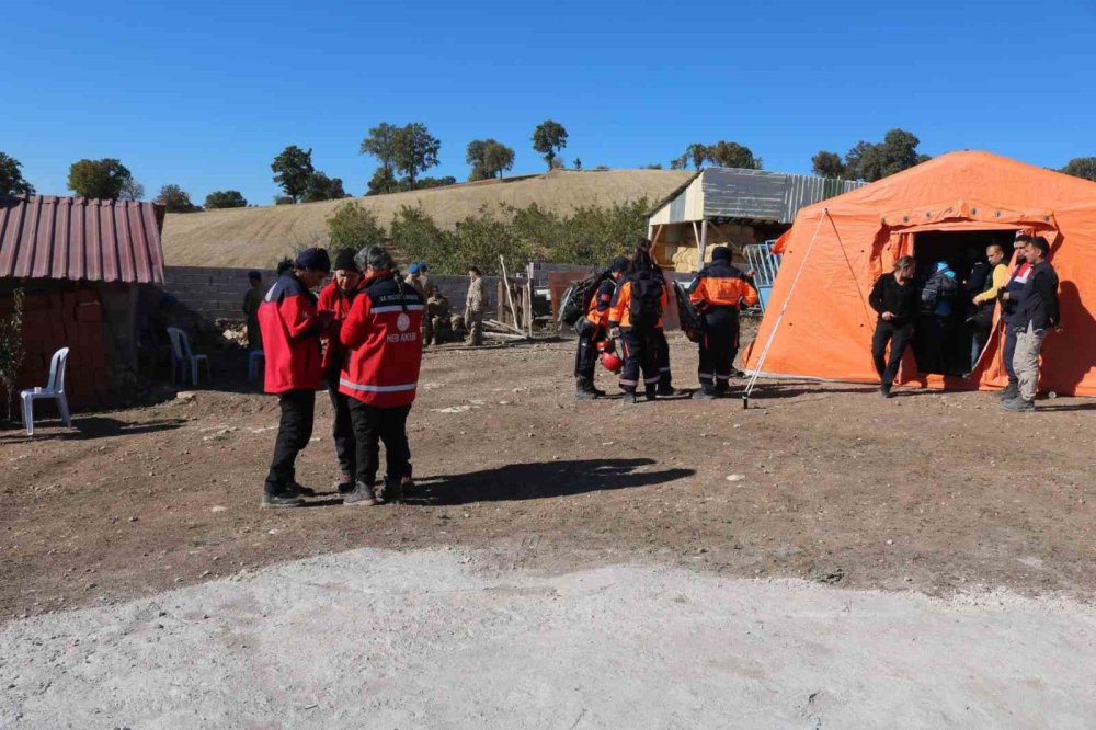
[[[864, 183], [765, 170], [708, 168], [700, 178], [659, 208], [650, 223], [703, 218], [744, 218], [790, 224], [799, 209], [847, 193]], [[703, 206], [703, 209], [701, 209]]]

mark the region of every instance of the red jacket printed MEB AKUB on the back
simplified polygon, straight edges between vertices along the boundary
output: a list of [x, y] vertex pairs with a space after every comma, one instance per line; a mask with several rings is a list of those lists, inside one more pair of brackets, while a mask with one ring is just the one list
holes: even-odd
[[378, 408], [414, 402], [422, 365], [422, 297], [398, 283], [391, 272], [366, 278], [339, 332], [350, 349], [339, 392]]

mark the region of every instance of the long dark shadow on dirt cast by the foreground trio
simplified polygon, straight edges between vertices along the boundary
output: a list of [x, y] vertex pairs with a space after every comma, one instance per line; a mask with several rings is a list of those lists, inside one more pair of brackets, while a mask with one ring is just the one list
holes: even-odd
[[511, 464], [495, 469], [416, 479], [419, 493], [410, 504], [450, 505], [501, 500], [570, 497], [608, 489], [664, 484], [696, 474], [695, 469], [649, 470], [654, 459], [584, 459]]

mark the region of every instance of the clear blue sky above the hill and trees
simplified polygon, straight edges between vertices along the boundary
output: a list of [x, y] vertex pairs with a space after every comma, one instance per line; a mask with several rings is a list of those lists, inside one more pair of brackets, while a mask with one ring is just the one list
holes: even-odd
[[[162, 7], [161, 7], [162, 5]], [[570, 163], [667, 164], [742, 142], [808, 172], [895, 126], [922, 151], [989, 149], [1060, 167], [1096, 155], [1096, 2], [15, 2], [0, 23], [0, 151], [41, 193], [116, 157], [148, 191], [201, 203], [277, 193], [286, 145], [361, 194], [380, 121], [442, 140], [427, 174], [464, 180], [494, 137], [537, 172], [533, 128]]]

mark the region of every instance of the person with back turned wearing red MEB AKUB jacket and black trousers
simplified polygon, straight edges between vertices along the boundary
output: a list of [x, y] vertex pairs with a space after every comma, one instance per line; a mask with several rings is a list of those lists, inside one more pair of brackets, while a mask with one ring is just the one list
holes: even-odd
[[[424, 303], [399, 277], [392, 258], [379, 246], [363, 249], [357, 263], [365, 270], [365, 280], [339, 332], [350, 350], [339, 391], [351, 398], [357, 448], [354, 491], [343, 503], [372, 506], [386, 499], [399, 501], [414, 486], [407, 420], [422, 365]], [[380, 442], [387, 474], [381, 489], [374, 491]]]

